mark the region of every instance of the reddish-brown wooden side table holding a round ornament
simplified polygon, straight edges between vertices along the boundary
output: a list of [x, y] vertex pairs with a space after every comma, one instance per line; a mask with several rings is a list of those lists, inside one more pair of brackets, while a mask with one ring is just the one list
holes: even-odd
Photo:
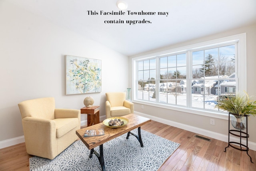
[[87, 114], [87, 126], [100, 123], [100, 110], [97, 109], [98, 107], [100, 106], [81, 108], [81, 114]]

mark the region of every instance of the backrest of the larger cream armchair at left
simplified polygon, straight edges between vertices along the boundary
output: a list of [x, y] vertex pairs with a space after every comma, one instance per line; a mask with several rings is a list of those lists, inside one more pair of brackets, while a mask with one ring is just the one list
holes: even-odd
[[38, 117], [54, 119], [55, 100], [54, 97], [45, 97], [22, 101], [18, 104], [22, 118]]

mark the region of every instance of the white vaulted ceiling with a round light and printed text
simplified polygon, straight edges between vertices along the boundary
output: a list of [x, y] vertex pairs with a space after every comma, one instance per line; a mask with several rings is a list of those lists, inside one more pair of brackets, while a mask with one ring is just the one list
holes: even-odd
[[256, 23], [256, 0], [125, 0], [125, 14], [117, 0], [8, 1], [127, 56]]

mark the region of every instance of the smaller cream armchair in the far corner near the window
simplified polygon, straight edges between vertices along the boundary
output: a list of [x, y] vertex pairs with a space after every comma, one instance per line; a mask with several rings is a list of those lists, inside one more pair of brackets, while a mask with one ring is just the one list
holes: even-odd
[[125, 98], [125, 92], [106, 93], [106, 118], [121, 117], [134, 112], [134, 104]]

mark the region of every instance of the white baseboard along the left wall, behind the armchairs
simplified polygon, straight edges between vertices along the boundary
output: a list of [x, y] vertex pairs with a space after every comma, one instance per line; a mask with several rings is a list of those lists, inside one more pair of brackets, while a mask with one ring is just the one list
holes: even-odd
[[[100, 121], [106, 119], [106, 116], [100, 116]], [[81, 121], [81, 126], [87, 125], [87, 119]], [[5, 147], [10, 147], [12, 145], [16, 145], [19, 143], [24, 143], [25, 138], [24, 136], [12, 138], [12, 139], [6, 139], [4, 141], [0, 141], [0, 149], [5, 148]]]

